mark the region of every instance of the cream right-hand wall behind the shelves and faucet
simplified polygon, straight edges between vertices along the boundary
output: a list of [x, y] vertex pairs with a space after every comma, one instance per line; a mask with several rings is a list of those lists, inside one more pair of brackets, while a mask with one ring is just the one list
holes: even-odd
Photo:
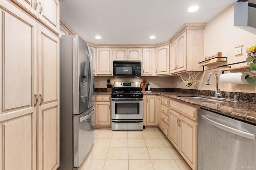
[[[246, 49], [251, 47], [256, 43], [256, 35], [244, 31], [238, 27], [233, 25], [234, 22], [234, 4], [230, 7], [226, 8], [226, 10], [222, 11], [212, 20], [210, 20], [205, 28], [204, 34], [204, 55], [211, 56], [216, 54], [218, 51], [222, 51], [223, 56], [228, 57], [228, 64], [236, 63], [240, 61], [246, 60]], [[235, 48], [237, 45], [243, 45], [242, 55], [238, 55], [237, 57], [234, 55]], [[203, 59], [202, 59], [203, 61]], [[240, 65], [245, 65], [242, 63]], [[239, 66], [239, 65], [236, 65]], [[208, 67], [215, 68], [215, 66]], [[208, 78], [208, 74], [211, 71], [217, 71], [220, 76], [222, 72], [216, 70], [208, 70], [203, 72], [200, 76], [198, 76], [198, 86], [186, 87], [182, 80], [179, 77], [175, 77], [173, 79], [175, 82], [180, 82], [178, 86], [175, 88], [191, 88], [191, 89], [200, 89], [200, 90], [215, 90], [216, 86], [216, 78], [212, 74], [211, 76], [211, 84], [209, 86], [205, 85], [205, 82]], [[227, 72], [225, 72], [227, 73]], [[248, 84], [248, 85], [240, 85], [240, 84], [224, 84], [219, 82], [219, 88], [221, 91], [227, 92], [248, 92], [248, 93], [256, 93], [256, 83]]]

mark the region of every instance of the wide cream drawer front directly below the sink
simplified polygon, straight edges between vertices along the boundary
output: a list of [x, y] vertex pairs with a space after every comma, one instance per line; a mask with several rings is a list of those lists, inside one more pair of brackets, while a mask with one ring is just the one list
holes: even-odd
[[198, 121], [198, 107], [170, 100], [170, 108], [182, 113], [194, 121]]

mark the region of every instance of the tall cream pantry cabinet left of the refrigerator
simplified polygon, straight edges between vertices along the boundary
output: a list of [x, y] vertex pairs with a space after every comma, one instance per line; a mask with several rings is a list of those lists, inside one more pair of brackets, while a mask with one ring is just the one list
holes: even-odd
[[[58, 28], [54, 31], [53, 26], [28, 13], [24, 4], [29, 0], [17, 1], [23, 6], [11, 0], [0, 1], [0, 170], [57, 169]], [[39, 14], [33, 6], [36, 2], [42, 5], [46, 0], [31, 1], [34, 13]], [[50, 10], [58, 5], [51, 18], [54, 20], [59, 1], [47, 3]], [[44, 10], [50, 17], [47, 8], [42, 8], [41, 14]]]

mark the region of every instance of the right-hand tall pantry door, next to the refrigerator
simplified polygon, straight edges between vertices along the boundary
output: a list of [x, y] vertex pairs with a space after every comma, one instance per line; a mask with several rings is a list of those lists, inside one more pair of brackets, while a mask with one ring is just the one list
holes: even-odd
[[59, 38], [38, 27], [38, 170], [59, 166]]

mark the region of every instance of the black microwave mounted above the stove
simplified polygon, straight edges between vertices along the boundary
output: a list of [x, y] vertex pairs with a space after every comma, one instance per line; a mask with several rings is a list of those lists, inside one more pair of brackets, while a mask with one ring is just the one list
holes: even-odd
[[113, 61], [113, 76], [141, 76], [140, 61]]

